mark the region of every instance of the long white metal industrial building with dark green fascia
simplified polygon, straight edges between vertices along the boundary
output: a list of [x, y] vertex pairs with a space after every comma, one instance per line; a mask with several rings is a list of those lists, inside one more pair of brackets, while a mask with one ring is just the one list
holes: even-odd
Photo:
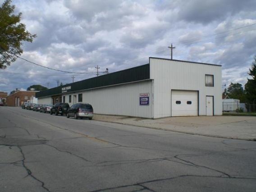
[[221, 65], [149, 58], [149, 64], [36, 93], [38, 103], [90, 103], [96, 114], [142, 118], [221, 115]]

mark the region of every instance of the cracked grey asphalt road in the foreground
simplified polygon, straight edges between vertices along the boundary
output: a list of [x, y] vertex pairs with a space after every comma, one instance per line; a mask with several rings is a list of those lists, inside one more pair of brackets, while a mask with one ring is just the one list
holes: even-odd
[[256, 142], [0, 107], [0, 192], [255, 192]]

